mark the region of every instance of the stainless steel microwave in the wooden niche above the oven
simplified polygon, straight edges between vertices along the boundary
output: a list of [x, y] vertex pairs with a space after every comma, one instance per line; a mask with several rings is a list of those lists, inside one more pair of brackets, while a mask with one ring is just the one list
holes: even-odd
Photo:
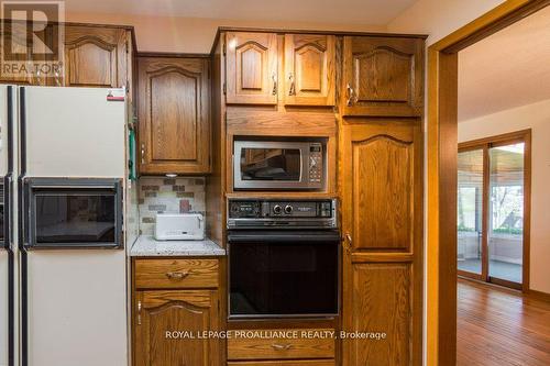
[[233, 144], [233, 188], [320, 190], [327, 169], [324, 141], [240, 141]]

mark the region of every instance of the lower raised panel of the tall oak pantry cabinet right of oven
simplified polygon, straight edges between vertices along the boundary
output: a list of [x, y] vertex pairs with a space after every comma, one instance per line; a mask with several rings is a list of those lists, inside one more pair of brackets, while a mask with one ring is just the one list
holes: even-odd
[[344, 339], [343, 366], [414, 365], [410, 263], [358, 263], [351, 271], [343, 329], [374, 335]]

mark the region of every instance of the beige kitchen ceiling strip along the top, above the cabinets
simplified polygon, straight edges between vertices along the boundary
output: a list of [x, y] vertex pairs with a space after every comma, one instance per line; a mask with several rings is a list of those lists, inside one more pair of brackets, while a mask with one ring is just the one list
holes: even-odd
[[66, 0], [67, 12], [385, 25], [416, 0]]

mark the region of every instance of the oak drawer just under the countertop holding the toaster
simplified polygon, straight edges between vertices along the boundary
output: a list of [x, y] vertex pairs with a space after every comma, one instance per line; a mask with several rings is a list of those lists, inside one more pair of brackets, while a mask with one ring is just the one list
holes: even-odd
[[217, 259], [135, 259], [136, 288], [218, 287]]

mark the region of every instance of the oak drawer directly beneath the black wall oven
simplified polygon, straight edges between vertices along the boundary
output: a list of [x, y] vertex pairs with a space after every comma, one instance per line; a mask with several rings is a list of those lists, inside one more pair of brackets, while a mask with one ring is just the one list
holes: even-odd
[[[298, 334], [296, 339], [270, 336], [273, 332], [293, 331]], [[302, 332], [307, 331], [324, 332], [333, 330], [252, 330], [250, 332], [262, 332], [262, 336], [244, 337], [235, 335], [228, 340], [228, 359], [333, 358], [334, 339], [302, 337]], [[277, 363], [273, 365], [277, 365]]]

